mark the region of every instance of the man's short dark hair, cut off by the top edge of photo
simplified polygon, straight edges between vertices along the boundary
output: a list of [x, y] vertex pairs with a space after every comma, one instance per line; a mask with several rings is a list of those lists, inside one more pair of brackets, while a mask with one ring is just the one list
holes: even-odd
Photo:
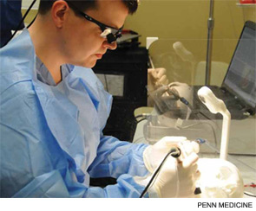
[[[41, 15], [46, 14], [52, 7], [52, 4], [56, 0], [40, 0], [38, 13]], [[72, 2], [76, 8], [79, 8], [82, 11], [89, 10], [89, 9], [96, 9], [97, 8], [97, 0], [68, 0], [67, 3]], [[138, 8], [138, 0], [121, 0], [126, 7], [128, 8], [129, 14], [134, 14]], [[72, 5], [69, 4], [72, 8]]]

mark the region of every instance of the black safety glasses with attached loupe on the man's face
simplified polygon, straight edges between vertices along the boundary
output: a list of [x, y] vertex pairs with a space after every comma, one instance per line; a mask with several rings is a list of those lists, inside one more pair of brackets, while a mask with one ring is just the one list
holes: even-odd
[[102, 22], [99, 22], [99, 21], [95, 20], [93, 17], [85, 14], [81, 10], [78, 10], [73, 3], [70, 3], [69, 1], [66, 1], [66, 2], [69, 3], [71, 8], [76, 10], [86, 20], [88, 20], [89, 22], [94, 22], [95, 24], [97, 24], [102, 30], [101, 36], [103, 38], [107, 38], [108, 43], [111, 44], [112, 42], [115, 42], [117, 40], [117, 38], [121, 37], [121, 30], [122, 30], [123, 26], [120, 29], [115, 29], [113, 27], [110, 27], [110, 26], [108, 26], [108, 25], [106, 25]]

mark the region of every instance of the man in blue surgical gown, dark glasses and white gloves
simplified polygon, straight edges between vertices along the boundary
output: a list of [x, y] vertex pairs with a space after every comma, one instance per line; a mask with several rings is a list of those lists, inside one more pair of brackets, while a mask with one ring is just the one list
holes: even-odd
[[[112, 98], [88, 68], [116, 48], [136, 8], [136, 0], [41, 1], [30, 30], [1, 49], [2, 197], [141, 195], [174, 144], [103, 136]], [[177, 167], [169, 158], [150, 195], [193, 195], [196, 160], [193, 154]], [[90, 176], [117, 184], [89, 187]]]

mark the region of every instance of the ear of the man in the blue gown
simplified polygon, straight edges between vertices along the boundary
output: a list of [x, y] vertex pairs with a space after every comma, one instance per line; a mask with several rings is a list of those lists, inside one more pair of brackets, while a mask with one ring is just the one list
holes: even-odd
[[69, 4], [65, 1], [57, 0], [52, 4], [51, 17], [57, 28], [62, 28], [63, 22], [67, 18], [69, 10]]

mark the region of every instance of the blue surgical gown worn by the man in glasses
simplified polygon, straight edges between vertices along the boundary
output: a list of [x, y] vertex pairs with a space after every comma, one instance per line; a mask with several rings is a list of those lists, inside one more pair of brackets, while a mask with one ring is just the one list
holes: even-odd
[[[102, 134], [112, 97], [89, 68], [64, 65], [49, 86], [27, 29], [0, 49], [1, 197], [139, 197], [145, 144]], [[89, 186], [112, 176], [115, 185]]]

